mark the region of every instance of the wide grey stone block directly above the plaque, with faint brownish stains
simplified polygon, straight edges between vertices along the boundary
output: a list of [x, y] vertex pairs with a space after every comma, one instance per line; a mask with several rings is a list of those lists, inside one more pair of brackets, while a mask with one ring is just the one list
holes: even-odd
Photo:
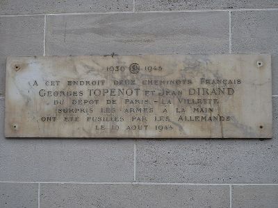
[[228, 12], [47, 16], [47, 55], [228, 52]]

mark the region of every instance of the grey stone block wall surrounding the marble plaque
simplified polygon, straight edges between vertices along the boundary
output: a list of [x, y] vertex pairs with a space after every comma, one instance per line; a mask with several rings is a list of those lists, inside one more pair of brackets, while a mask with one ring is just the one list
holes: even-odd
[[[278, 207], [277, 0], [0, 1], [0, 207]], [[272, 54], [272, 139], [6, 139], [8, 55]]]

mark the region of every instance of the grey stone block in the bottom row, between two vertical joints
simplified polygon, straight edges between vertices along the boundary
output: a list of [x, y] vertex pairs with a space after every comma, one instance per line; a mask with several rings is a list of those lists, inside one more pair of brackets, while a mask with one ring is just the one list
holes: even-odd
[[229, 186], [41, 184], [40, 207], [229, 207]]

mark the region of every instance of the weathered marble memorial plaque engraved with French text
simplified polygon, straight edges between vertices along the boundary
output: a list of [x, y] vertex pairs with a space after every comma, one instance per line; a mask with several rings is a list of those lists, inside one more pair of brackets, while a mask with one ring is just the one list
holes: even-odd
[[268, 54], [10, 57], [6, 137], [272, 137]]

